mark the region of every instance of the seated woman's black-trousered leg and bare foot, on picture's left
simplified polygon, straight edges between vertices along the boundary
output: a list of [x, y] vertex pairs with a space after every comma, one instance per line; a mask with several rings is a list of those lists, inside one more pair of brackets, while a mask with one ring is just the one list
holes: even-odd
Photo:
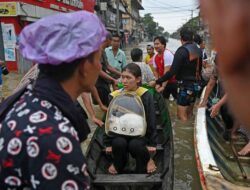
[[122, 173], [128, 158], [127, 146], [125, 137], [115, 137], [112, 140], [113, 164], [108, 169], [110, 174]]

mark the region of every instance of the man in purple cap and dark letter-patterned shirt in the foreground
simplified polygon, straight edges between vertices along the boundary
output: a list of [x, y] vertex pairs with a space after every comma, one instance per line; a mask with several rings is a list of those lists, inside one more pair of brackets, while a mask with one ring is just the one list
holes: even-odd
[[88, 126], [74, 102], [97, 80], [106, 35], [85, 11], [23, 29], [20, 52], [38, 64], [39, 75], [0, 107], [1, 190], [90, 189], [80, 147]]

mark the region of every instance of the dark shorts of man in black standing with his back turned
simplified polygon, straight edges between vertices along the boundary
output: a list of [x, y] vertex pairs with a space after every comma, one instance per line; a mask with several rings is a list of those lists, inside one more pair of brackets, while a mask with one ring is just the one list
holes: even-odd
[[182, 85], [180, 84], [177, 89], [177, 105], [190, 106], [195, 103], [196, 92], [193, 84]]

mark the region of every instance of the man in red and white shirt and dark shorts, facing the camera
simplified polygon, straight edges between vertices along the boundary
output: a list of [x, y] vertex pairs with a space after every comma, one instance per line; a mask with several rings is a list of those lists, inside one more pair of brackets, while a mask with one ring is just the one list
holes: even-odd
[[[173, 60], [174, 55], [171, 51], [166, 49], [167, 41], [163, 36], [157, 36], [154, 39], [154, 47], [157, 54], [153, 58], [153, 66], [154, 66], [154, 75], [156, 79], [162, 77], [167, 71], [169, 71]], [[167, 82], [163, 83], [162, 88], [163, 96], [165, 98], [169, 98], [170, 94], [174, 98], [177, 97], [177, 84], [175, 77], [172, 77]]]

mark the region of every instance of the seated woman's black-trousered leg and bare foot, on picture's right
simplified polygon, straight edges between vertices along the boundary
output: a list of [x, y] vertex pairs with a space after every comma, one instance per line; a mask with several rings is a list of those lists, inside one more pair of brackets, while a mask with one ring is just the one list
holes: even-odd
[[129, 141], [129, 152], [136, 160], [136, 173], [152, 173], [156, 170], [154, 161], [150, 158], [146, 147], [146, 140], [134, 138]]

